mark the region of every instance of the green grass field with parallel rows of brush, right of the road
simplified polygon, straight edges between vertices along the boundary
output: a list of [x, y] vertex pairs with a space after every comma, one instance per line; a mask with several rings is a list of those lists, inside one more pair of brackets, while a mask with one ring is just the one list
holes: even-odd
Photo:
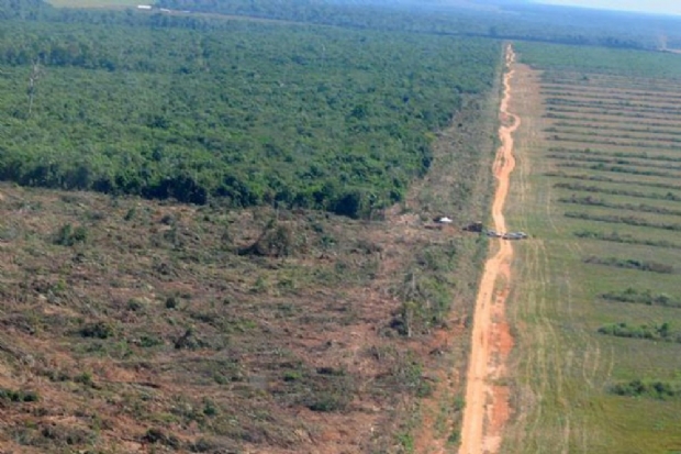
[[518, 51], [534, 67], [512, 82], [523, 125], [507, 220], [532, 239], [513, 265], [502, 452], [681, 452], [681, 60]]

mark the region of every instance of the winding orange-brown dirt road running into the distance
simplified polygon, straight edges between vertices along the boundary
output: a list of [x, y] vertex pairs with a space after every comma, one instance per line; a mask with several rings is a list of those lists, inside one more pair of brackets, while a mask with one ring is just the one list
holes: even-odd
[[[506, 231], [503, 208], [509, 192], [510, 175], [515, 167], [513, 133], [521, 125], [521, 119], [509, 112], [514, 60], [515, 54], [509, 46], [504, 97], [500, 108], [501, 146], [493, 166], [498, 187], [492, 204], [492, 218], [494, 230], [498, 232]], [[513, 345], [505, 321], [505, 300], [511, 285], [512, 258], [512, 242], [499, 240], [499, 251], [484, 265], [476, 301], [459, 454], [498, 453], [501, 433], [509, 419], [509, 388], [501, 385], [499, 379], [504, 375], [503, 363]]]

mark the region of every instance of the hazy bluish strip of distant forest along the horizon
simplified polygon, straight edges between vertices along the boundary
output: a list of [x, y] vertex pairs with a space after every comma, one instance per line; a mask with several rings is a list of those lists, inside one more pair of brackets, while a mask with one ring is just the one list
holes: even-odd
[[[669, 18], [527, 4], [480, 2], [461, 8], [438, 1], [158, 0], [159, 8], [343, 27], [485, 36], [578, 45], [657, 49], [681, 47], [679, 21]], [[473, 4], [473, 3], [470, 3]]]

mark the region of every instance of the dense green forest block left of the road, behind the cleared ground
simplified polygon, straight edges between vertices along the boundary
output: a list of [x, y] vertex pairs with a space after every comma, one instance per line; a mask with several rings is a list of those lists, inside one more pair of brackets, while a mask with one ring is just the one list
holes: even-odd
[[0, 177], [351, 217], [401, 200], [499, 44], [227, 21], [7, 22]]

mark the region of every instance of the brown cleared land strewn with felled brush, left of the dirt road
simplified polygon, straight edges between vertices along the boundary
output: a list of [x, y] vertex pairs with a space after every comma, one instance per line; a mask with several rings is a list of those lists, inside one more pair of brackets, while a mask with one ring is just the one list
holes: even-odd
[[496, 104], [461, 110], [382, 220], [0, 186], [0, 445], [456, 444], [487, 241], [426, 226], [485, 212]]

